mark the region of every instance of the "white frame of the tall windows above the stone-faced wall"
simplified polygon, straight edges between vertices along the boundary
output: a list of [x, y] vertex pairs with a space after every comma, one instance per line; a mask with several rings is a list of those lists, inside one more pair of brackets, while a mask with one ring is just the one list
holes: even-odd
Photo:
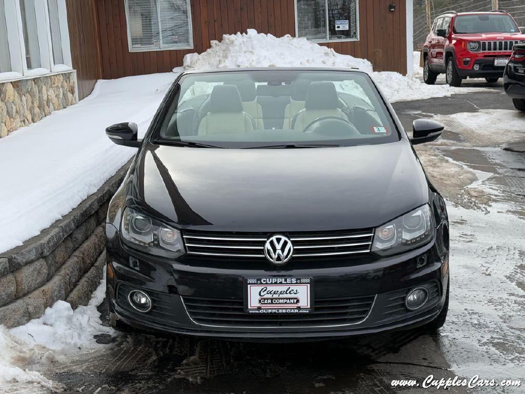
[[[35, 2], [35, 16], [37, 20], [38, 46], [40, 51], [40, 68], [46, 69], [47, 73], [34, 74], [27, 69], [26, 49], [24, 45], [24, 32], [22, 28], [22, 13], [18, 0], [5, 0], [4, 10], [7, 25], [7, 45], [11, 60], [11, 72], [20, 74], [20, 78], [37, 77], [53, 72], [66, 71], [63, 66], [72, 68], [71, 48], [69, 46], [69, 28], [67, 24], [66, 0], [58, 0], [58, 19], [61, 35], [62, 57], [64, 65], [53, 63], [53, 44], [51, 43], [51, 29], [47, 0], [33, 0]], [[1, 78], [2, 74], [0, 74]]]

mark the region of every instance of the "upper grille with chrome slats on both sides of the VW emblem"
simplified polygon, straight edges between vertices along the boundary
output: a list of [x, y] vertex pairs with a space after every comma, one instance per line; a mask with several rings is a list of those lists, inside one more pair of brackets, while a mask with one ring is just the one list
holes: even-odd
[[[374, 229], [280, 233], [290, 238], [293, 257], [324, 257], [370, 252]], [[273, 233], [184, 231], [188, 254], [264, 258], [264, 244]]]

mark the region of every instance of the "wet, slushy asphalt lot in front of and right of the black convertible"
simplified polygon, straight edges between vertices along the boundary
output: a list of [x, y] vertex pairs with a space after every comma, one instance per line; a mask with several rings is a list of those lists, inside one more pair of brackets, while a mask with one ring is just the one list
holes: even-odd
[[[394, 105], [404, 127], [435, 117], [443, 138], [416, 147], [430, 180], [449, 201], [450, 310], [438, 334], [425, 328], [324, 342], [253, 344], [153, 333], [103, 335], [106, 344], [40, 369], [65, 392], [390, 393], [394, 379], [421, 384], [460, 376], [521, 379], [521, 387], [451, 387], [449, 392], [525, 388], [525, 153], [523, 132], [471, 129], [447, 117], [500, 109], [519, 117], [501, 87]], [[479, 115], [479, 113], [478, 113]], [[519, 119], [519, 118], [517, 118]], [[501, 119], [505, 122], [505, 119]], [[510, 143], [514, 149], [502, 149]], [[518, 148], [516, 148], [518, 147]], [[107, 319], [107, 310], [99, 309]], [[38, 366], [28, 366], [37, 370]], [[6, 392], [46, 392], [13, 383]], [[1, 391], [1, 390], [0, 390]], [[430, 390], [435, 391], [435, 390]]]

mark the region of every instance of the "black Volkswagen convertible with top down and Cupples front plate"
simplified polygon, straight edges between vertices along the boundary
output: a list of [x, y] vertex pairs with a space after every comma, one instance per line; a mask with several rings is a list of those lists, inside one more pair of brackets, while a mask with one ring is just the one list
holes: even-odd
[[108, 211], [116, 326], [304, 340], [445, 322], [445, 202], [368, 74], [184, 72]]

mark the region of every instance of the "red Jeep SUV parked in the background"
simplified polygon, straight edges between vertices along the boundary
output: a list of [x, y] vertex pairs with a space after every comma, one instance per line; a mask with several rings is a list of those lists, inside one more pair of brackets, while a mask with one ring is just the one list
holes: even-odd
[[505, 11], [446, 12], [434, 20], [423, 46], [423, 79], [433, 85], [445, 72], [450, 86], [467, 77], [496, 82], [520, 43], [525, 43], [525, 27]]

